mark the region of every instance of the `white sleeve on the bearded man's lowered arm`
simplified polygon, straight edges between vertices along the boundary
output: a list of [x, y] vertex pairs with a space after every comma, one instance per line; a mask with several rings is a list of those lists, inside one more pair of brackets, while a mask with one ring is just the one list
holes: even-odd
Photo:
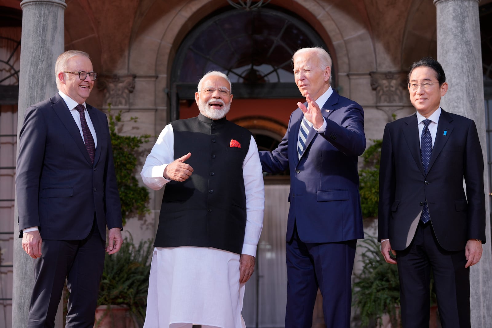
[[246, 191], [246, 231], [242, 254], [256, 256], [256, 246], [263, 228], [265, 185], [258, 147], [252, 136], [243, 162], [243, 175]]

